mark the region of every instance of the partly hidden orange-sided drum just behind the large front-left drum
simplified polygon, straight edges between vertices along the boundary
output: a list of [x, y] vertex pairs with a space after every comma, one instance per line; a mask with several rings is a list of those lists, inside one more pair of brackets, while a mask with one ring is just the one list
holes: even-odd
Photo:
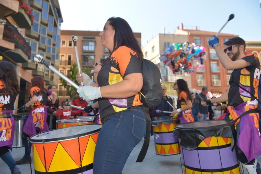
[[93, 124], [93, 119], [90, 118], [75, 118], [75, 119], [62, 119], [57, 120], [57, 128], [66, 128], [77, 125]]

